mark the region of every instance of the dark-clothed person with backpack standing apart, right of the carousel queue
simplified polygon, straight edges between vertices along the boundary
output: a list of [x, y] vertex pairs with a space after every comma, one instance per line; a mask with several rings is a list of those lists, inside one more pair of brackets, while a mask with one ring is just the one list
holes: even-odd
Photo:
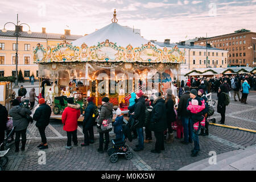
[[[217, 112], [221, 114], [221, 120], [218, 122], [225, 125], [225, 113], [226, 113], [226, 102], [228, 94], [225, 93], [225, 88], [223, 85], [218, 89], [218, 104]], [[228, 96], [229, 97], [229, 96]]]

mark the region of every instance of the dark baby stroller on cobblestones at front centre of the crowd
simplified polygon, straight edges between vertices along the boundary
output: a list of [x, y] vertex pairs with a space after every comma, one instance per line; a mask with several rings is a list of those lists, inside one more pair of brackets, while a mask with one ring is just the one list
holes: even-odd
[[113, 139], [113, 146], [110, 147], [107, 151], [110, 156], [109, 160], [112, 163], [116, 163], [118, 160], [118, 155], [125, 155], [127, 160], [133, 158], [133, 153], [131, 153], [130, 148], [125, 144], [127, 138], [131, 142], [133, 138], [131, 137], [131, 130], [128, 126], [123, 125], [123, 138]]

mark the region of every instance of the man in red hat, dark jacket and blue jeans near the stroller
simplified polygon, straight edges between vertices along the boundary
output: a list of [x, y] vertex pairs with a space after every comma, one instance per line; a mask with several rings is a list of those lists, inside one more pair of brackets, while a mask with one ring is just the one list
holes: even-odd
[[145, 99], [143, 96], [142, 90], [139, 90], [138, 93], [136, 93], [136, 104], [135, 104], [135, 110], [133, 118], [135, 121], [138, 121], [138, 124], [136, 126], [137, 134], [138, 134], [138, 142], [139, 144], [134, 148], [134, 151], [141, 151], [144, 149], [144, 138], [143, 138], [143, 125], [145, 122]]

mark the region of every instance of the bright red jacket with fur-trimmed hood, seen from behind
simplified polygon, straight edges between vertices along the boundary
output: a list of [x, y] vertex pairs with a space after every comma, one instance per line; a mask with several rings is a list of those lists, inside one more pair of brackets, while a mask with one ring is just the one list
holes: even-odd
[[80, 105], [68, 104], [62, 113], [61, 120], [64, 131], [77, 130], [77, 119], [80, 117]]

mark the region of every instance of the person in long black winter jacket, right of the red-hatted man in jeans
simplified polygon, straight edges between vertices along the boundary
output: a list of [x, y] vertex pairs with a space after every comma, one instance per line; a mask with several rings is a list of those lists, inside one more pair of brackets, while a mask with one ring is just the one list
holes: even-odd
[[155, 93], [155, 95], [157, 98], [154, 100], [151, 123], [156, 142], [155, 149], [151, 152], [160, 153], [161, 150], [164, 150], [164, 130], [167, 129], [166, 105], [161, 93]]

